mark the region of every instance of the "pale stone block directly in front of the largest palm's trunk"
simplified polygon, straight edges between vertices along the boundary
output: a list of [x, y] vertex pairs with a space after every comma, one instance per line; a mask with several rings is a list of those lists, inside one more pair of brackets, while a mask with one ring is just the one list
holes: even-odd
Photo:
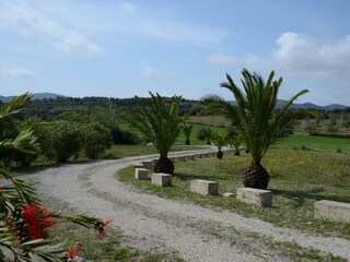
[[238, 188], [236, 199], [258, 207], [272, 206], [272, 193], [269, 190]]

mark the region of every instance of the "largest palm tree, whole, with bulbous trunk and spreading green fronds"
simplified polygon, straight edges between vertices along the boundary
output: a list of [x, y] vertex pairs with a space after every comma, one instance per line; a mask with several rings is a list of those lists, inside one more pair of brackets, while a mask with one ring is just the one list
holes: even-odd
[[275, 72], [271, 71], [268, 80], [257, 73], [242, 71], [243, 88], [245, 94], [235, 85], [230, 74], [228, 82], [220, 84], [231, 91], [236, 100], [236, 106], [224, 100], [220, 96], [207, 96], [203, 103], [208, 103], [207, 111], [222, 112], [232, 124], [242, 133], [247, 148], [252, 155], [252, 165], [243, 174], [245, 187], [266, 189], [269, 182], [269, 174], [262, 167], [261, 159], [269, 146], [276, 142], [279, 134], [293, 122], [306, 114], [302, 111], [289, 111], [293, 102], [301, 95], [307, 93], [303, 90], [284, 103], [280, 109], [276, 109], [277, 95], [282, 84], [282, 78], [273, 81]]

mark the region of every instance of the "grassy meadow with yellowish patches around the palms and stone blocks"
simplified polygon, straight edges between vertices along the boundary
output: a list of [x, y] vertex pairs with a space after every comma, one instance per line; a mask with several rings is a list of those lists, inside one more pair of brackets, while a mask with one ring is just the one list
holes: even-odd
[[250, 163], [247, 155], [225, 155], [176, 163], [173, 187], [159, 188], [149, 181], [133, 179], [132, 167], [118, 174], [120, 180], [165, 198], [189, 200], [200, 205], [231, 210], [242, 215], [257, 217], [278, 226], [314, 231], [325, 236], [350, 239], [350, 224], [314, 219], [314, 202], [334, 200], [350, 202], [350, 160], [348, 154], [271, 150], [262, 165], [271, 175], [269, 190], [273, 193], [273, 207], [256, 209], [235, 199], [203, 196], [189, 192], [191, 179], [219, 181], [220, 193], [235, 192], [242, 187], [241, 175]]

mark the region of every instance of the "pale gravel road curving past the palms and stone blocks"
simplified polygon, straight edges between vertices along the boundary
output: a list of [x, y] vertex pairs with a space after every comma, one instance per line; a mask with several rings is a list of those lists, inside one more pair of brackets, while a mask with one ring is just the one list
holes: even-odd
[[162, 199], [115, 178], [117, 170], [148, 158], [70, 164], [39, 171], [31, 179], [36, 181], [40, 194], [114, 219], [112, 226], [132, 236], [129, 246], [138, 249], [176, 252], [185, 261], [291, 261], [264, 245], [264, 239], [272, 239], [350, 261], [350, 241], [346, 239], [311, 236], [232, 212]]

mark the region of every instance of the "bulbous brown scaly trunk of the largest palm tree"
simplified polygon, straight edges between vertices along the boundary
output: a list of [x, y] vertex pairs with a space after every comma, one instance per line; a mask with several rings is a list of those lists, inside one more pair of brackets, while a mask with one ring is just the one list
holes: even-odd
[[259, 162], [253, 162], [242, 180], [246, 188], [267, 189], [270, 176]]

